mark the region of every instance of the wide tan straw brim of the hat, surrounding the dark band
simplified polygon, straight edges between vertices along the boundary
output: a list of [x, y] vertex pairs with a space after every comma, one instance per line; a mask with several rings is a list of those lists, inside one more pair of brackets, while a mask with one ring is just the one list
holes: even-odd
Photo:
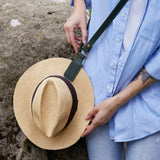
[[72, 82], [77, 92], [78, 109], [70, 124], [51, 138], [45, 136], [35, 125], [31, 113], [31, 100], [37, 84], [49, 75], [63, 76], [70, 62], [71, 60], [65, 58], [50, 58], [36, 63], [21, 76], [14, 91], [13, 105], [17, 122], [26, 137], [43, 149], [63, 149], [76, 143], [88, 125], [85, 116], [94, 106], [91, 82], [81, 69]]

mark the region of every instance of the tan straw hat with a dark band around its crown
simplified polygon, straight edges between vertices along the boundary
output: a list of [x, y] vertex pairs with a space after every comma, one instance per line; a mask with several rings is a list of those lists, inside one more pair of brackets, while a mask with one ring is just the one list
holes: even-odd
[[91, 82], [83, 69], [73, 82], [63, 77], [71, 60], [50, 58], [31, 66], [19, 79], [14, 112], [26, 137], [43, 149], [63, 149], [76, 143], [93, 109]]

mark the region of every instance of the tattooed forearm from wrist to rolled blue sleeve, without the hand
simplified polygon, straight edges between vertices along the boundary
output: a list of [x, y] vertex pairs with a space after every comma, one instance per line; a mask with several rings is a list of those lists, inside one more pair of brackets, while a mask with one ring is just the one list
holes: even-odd
[[[149, 87], [156, 80], [153, 79], [144, 68], [139, 75], [127, 85], [121, 92], [115, 95], [113, 98], [116, 100], [117, 107], [120, 108], [125, 103], [127, 103], [130, 99], [136, 96], [143, 89]], [[117, 108], [117, 109], [118, 109]]]

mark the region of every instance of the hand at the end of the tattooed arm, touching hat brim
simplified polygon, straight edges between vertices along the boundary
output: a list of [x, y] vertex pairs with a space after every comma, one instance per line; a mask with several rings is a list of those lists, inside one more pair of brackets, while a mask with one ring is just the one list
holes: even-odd
[[119, 104], [113, 97], [104, 100], [100, 104], [95, 106], [94, 109], [85, 117], [86, 120], [91, 120], [91, 124], [87, 126], [86, 130], [82, 134], [82, 137], [92, 132], [98, 126], [104, 125], [105, 123], [109, 122], [118, 108]]

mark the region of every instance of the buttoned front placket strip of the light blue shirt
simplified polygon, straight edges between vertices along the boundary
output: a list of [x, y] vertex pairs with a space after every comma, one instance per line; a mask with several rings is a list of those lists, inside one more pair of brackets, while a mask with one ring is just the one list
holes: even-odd
[[129, 11], [129, 2], [124, 6], [124, 8], [121, 10], [121, 12], [117, 15], [115, 20], [113, 21], [113, 30], [114, 33], [112, 33], [112, 58], [110, 60], [110, 75], [109, 80], [106, 84], [106, 94], [107, 96], [113, 95], [113, 90], [115, 87], [115, 82], [117, 79], [117, 76], [119, 77], [119, 73], [121, 71], [118, 71], [118, 62], [120, 57], [120, 51], [123, 43], [123, 36], [124, 31], [126, 27], [127, 22], [127, 16]]

